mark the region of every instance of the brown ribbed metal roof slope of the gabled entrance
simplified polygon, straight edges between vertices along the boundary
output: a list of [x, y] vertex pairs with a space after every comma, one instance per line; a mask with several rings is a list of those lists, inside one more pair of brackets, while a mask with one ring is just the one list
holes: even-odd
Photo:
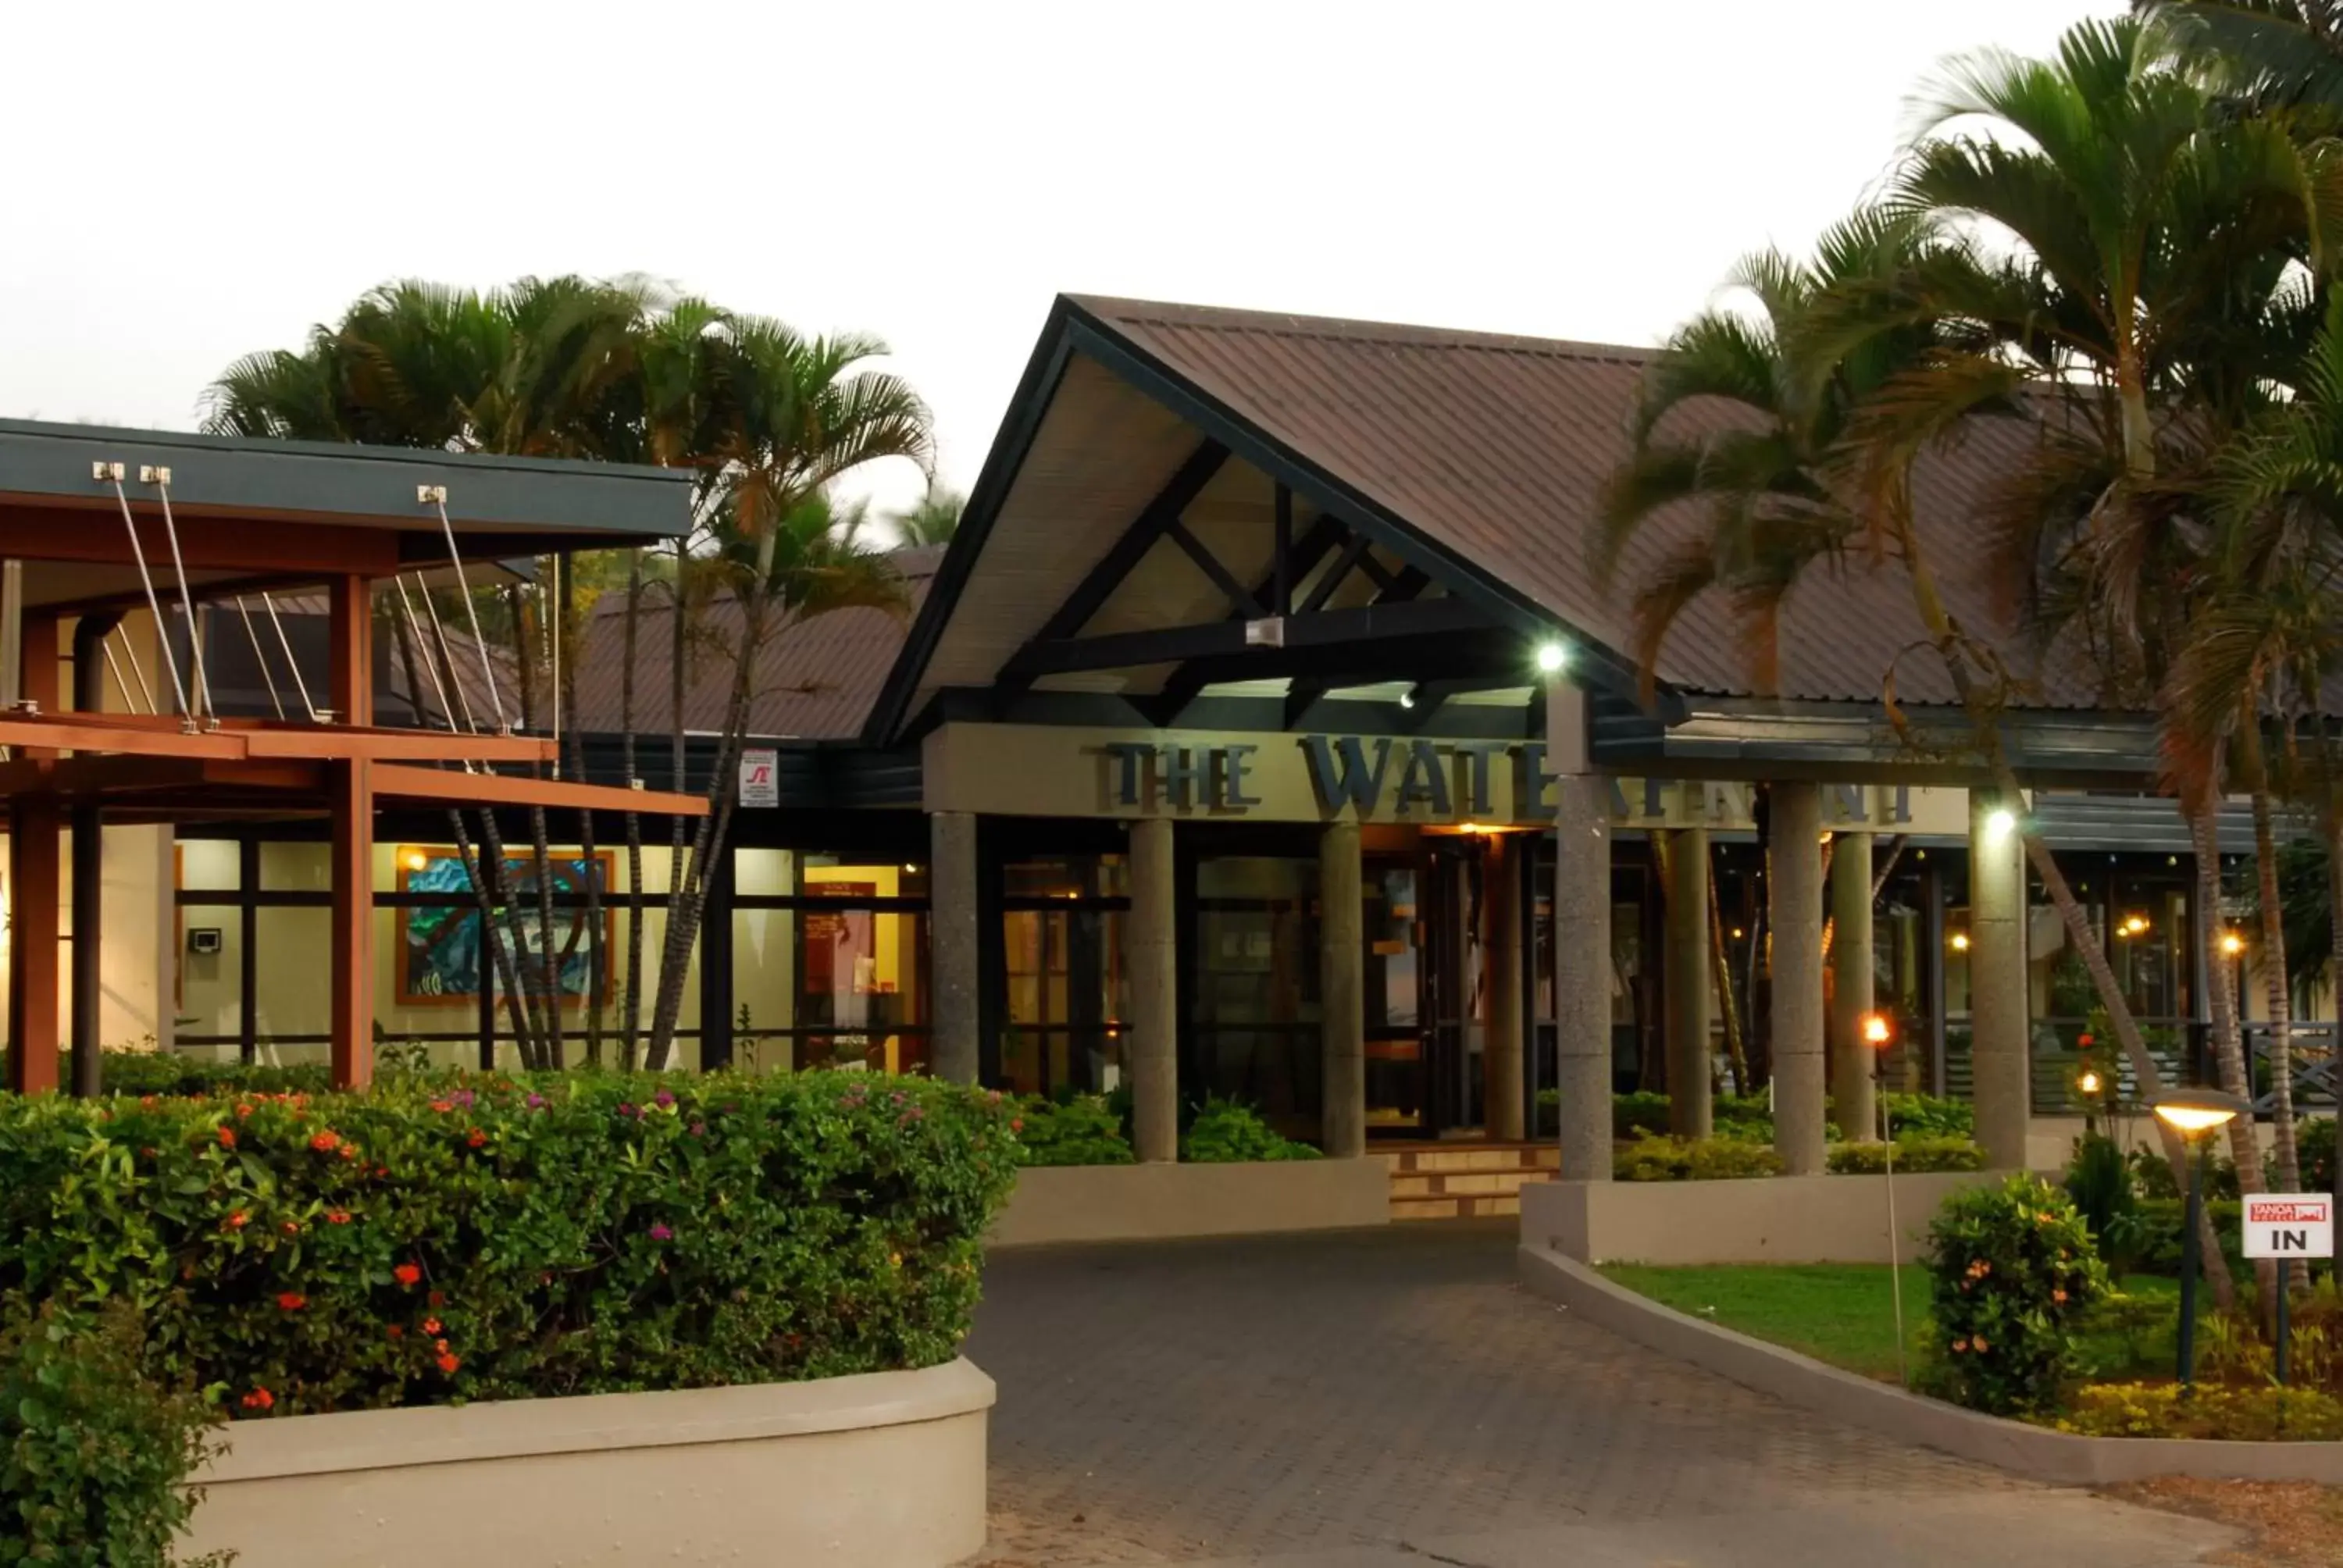
[[[1649, 352], [1143, 300], [1071, 305], [1303, 464], [1617, 652], [1633, 642], [1635, 586], [1696, 525], [1685, 516], [1645, 530], [1612, 591], [1596, 586], [1586, 551], [1596, 497], [1628, 455]], [[1968, 572], [1982, 551], [1966, 518], [2027, 438], [2015, 422], [1980, 429], [1919, 476], [1921, 532], [1954, 614], [1968, 623], [1996, 616]], [[1837, 581], [1792, 595], [1781, 626], [1781, 696], [1877, 698], [1914, 638], [1903, 572], [1849, 563]], [[1659, 677], [1689, 691], [1746, 694], [1741, 642], [1729, 605], [1710, 595], [1682, 616]], [[1905, 701], [1952, 701], [1935, 659], [1905, 656], [1895, 675]], [[2074, 675], [2045, 687], [2052, 705], [2092, 703]]]

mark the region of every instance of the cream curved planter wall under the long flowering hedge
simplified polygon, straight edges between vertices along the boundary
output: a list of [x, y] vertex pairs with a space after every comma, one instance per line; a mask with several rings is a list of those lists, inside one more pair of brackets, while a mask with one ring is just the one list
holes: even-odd
[[244, 1420], [187, 1554], [241, 1568], [752, 1561], [940, 1568], [984, 1547], [968, 1362], [818, 1383]]

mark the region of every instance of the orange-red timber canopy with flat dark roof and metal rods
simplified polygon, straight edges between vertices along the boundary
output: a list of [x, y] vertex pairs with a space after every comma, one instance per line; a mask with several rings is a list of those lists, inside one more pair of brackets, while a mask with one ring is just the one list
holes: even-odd
[[[101, 825], [330, 818], [333, 1066], [340, 1083], [363, 1083], [377, 804], [705, 813], [698, 797], [548, 776], [558, 773], [555, 741], [513, 734], [506, 708], [443, 708], [440, 729], [387, 727], [373, 713], [373, 584], [457, 560], [672, 541], [691, 523], [689, 497], [689, 476], [663, 469], [0, 422], [0, 560], [9, 563], [16, 670], [14, 701], [0, 713], [9, 1088], [56, 1088], [59, 830], [68, 816], [75, 1052], [87, 1050], [91, 1066]], [[323, 588], [330, 654], [319, 713], [309, 722], [220, 717], [206, 703], [185, 612], [276, 588]], [[127, 689], [108, 710], [108, 633], [141, 612], [152, 614], [148, 647], [162, 668], [150, 687], [141, 680], [143, 713]], [[70, 694], [61, 689], [68, 635]]]

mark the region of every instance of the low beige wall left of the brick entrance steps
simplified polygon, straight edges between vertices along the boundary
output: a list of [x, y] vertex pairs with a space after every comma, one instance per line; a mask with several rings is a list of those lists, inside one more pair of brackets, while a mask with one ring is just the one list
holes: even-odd
[[1038, 1247], [1389, 1221], [1392, 1177], [1382, 1160], [1031, 1165], [1017, 1172], [986, 1240]]

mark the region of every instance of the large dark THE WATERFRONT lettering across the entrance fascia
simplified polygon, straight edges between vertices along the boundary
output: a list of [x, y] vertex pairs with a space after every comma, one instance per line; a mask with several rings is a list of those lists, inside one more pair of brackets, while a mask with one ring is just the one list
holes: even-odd
[[[1401, 736], [1289, 736], [1300, 752], [1310, 797], [1321, 816], [1443, 823], [1546, 823], [1556, 811], [1556, 776], [1544, 741], [1415, 741]], [[1277, 745], [1277, 741], [1268, 741]], [[1263, 778], [1286, 778], [1291, 762], [1263, 755], [1263, 743], [1111, 741], [1097, 748], [1106, 766], [1111, 811], [1197, 811], [1244, 816], [1265, 804]], [[1291, 757], [1291, 752], [1286, 752]], [[1497, 802], [1500, 759], [1509, 766]], [[1272, 769], [1275, 764], [1275, 769]], [[1607, 778], [1612, 820], [1621, 827], [1750, 825], [1755, 785], [1671, 778]], [[1272, 790], [1275, 795], [1275, 790]], [[1286, 799], [1286, 797], [1279, 797]], [[1286, 809], [1291, 813], [1291, 806]], [[1912, 820], [1905, 785], [1830, 785], [1825, 823], [1893, 827]]]

